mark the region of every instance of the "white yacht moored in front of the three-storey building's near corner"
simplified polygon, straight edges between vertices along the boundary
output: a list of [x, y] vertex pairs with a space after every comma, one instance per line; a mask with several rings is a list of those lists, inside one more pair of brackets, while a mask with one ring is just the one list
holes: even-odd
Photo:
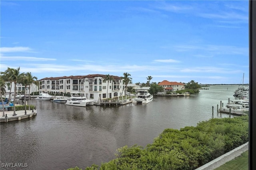
[[69, 100], [66, 101], [65, 105], [80, 106], [80, 107], [86, 107], [86, 105], [94, 105], [93, 100], [87, 99], [86, 97], [82, 96], [81, 93], [72, 92], [70, 94], [71, 94], [71, 97]]

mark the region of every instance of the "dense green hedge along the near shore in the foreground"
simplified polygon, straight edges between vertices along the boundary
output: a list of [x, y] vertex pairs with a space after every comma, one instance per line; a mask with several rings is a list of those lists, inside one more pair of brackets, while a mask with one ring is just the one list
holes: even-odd
[[124, 146], [114, 160], [86, 170], [194, 170], [248, 142], [248, 120], [248, 116], [214, 118], [196, 127], [165, 129], [145, 148]]

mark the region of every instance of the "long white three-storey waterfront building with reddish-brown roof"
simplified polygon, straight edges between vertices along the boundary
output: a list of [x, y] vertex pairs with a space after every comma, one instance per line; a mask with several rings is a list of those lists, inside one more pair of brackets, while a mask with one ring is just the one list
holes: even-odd
[[[90, 74], [64, 77], [46, 77], [39, 80], [40, 93], [80, 92], [91, 100], [121, 97], [124, 94], [122, 77], [110, 75], [113, 80], [106, 81], [106, 75]], [[108, 93], [108, 94], [107, 94]]]

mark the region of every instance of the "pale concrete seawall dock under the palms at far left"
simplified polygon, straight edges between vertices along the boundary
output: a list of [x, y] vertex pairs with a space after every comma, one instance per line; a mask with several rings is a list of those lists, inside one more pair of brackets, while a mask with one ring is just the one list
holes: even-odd
[[25, 115], [25, 110], [21, 111], [15, 111], [16, 116], [13, 115], [13, 111], [4, 111], [5, 117], [2, 117], [3, 112], [0, 112], [0, 122], [10, 122], [10, 121], [20, 121], [21, 119], [30, 119], [33, 116], [36, 116], [37, 111], [36, 110], [30, 110], [26, 111]]

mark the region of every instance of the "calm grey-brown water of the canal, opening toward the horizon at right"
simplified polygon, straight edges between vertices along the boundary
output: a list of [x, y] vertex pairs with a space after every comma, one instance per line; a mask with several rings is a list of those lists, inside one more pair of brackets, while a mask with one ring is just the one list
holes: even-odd
[[1, 163], [27, 163], [24, 169], [31, 170], [100, 165], [114, 159], [117, 148], [145, 147], [165, 128], [180, 129], [212, 117], [229, 117], [217, 114], [217, 104], [234, 99], [237, 88], [216, 85], [190, 97], [155, 96], [145, 105], [120, 107], [73, 107], [32, 99], [36, 117], [1, 123]]

